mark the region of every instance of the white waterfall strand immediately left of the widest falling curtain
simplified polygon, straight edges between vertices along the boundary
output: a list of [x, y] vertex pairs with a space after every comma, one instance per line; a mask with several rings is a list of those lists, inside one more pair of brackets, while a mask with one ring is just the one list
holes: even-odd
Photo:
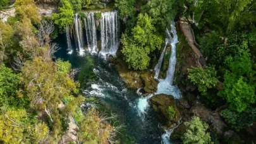
[[84, 18], [88, 49], [92, 53], [97, 53], [97, 31], [94, 18], [95, 13], [96, 12], [94, 11], [85, 12], [87, 18]]

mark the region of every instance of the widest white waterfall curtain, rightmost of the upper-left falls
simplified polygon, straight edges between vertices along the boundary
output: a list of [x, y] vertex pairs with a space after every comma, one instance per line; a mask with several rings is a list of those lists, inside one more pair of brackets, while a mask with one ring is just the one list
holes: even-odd
[[116, 55], [119, 46], [118, 12], [107, 11], [101, 18], [101, 52], [102, 56]]

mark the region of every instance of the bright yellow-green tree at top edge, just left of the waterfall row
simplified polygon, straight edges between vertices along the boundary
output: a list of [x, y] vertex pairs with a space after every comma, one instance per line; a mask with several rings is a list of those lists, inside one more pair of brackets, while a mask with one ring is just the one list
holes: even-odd
[[68, 0], [62, 0], [61, 6], [58, 8], [59, 13], [52, 14], [52, 20], [59, 28], [63, 29], [66, 25], [71, 25], [73, 23], [73, 8]]

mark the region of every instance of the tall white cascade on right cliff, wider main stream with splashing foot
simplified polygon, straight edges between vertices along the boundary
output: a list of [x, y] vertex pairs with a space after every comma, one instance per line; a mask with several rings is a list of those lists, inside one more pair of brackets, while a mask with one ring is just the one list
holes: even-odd
[[[176, 44], [178, 43], [178, 35], [176, 33], [175, 23], [172, 21], [171, 30], [166, 31], [168, 41], [171, 43], [171, 57], [169, 59], [169, 67], [166, 75], [166, 79], [160, 80], [157, 85], [156, 94], [173, 95], [175, 99], [180, 99], [180, 90], [177, 86], [173, 85], [173, 78], [176, 65]], [[173, 34], [173, 37], [171, 36]]]

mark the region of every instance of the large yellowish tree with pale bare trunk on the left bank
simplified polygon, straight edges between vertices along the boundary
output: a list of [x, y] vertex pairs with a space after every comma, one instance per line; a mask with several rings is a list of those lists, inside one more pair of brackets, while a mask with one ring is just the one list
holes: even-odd
[[70, 78], [71, 64], [59, 59], [54, 63], [51, 59], [35, 58], [24, 63], [21, 73], [21, 83], [24, 85], [22, 94], [31, 101], [32, 108], [46, 112], [57, 141], [62, 117], [58, 111], [59, 104], [62, 99], [71, 97], [71, 93], [78, 92]]

